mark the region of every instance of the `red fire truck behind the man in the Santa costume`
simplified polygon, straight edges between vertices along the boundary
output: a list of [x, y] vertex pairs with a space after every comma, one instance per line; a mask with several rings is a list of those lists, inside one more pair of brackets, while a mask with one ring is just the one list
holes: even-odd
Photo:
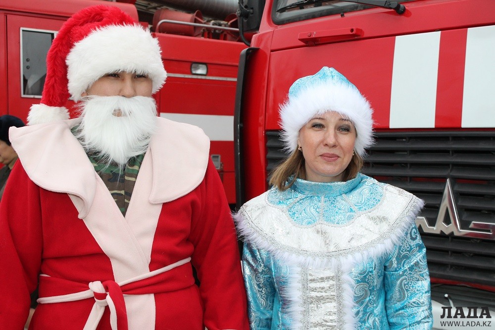
[[[173, 5], [181, 1], [169, 2]], [[207, 1], [203, 2], [206, 7]], [[135, 3], [136, 0], [2, 1], [0, 114], [26, 120], [30, 106], [40, 102], [51, 41], [74, 12], [107, 4], [119, 6], [139, 20], [143, 15]], [[234, 204], [233, 109], [239, 55], [246, 45], [238, 41], [235, 15], [206, 22], [200, 11], [189, 9], [184, 12], [160, 8], [150, 14], [150, 22], [141, 22], [159, 40], [168, 72], [167, 82], [155, 98], [161, 116], [196, 124], [210, 137], [211, 158], [220, 172], [229, 203]], [[67, 106], [72, 105], [69, 101]]]

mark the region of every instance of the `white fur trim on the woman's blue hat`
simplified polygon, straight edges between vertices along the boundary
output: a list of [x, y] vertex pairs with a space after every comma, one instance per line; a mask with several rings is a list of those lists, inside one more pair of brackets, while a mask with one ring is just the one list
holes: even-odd
[[365, 156], [373, 144], [373, 110], [369, 102], [351, 86], [327, 83], [302, 90], [280, 106], [280, 125], [285, 149], [297, 149], [299, 130], [316, 114], [336, 111], [352, 121], [357, 131], [355, 151]]

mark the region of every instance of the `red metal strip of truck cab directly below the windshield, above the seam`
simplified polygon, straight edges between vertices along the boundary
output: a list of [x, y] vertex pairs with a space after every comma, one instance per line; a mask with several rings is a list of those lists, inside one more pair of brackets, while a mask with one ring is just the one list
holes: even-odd
[[[270, 1], [271, 2], [271, 1]], [[377, 38], [410, 33], [431, 32], [451, 28], [492, 24], [494, 15], [486, 0], [420, 0], [406, 2], [402, 15], [393, 10], [371, 8], [277, 26], [271, 51], [306, 47], [298, 40], [299, 33], [350, 27], [362, 30], [361, 38]], [[493, 4], [492, 4], [493, 6]], [[480, 8], [484, 8], [480, 10]], [[469, 9], [469, 11], [466, 11]], [[411, 13], [414, 14], [411, 14]], [[260, 31], [263, 31], [260, 27]], [[354, 39], [349, 36], [348, 40]]]

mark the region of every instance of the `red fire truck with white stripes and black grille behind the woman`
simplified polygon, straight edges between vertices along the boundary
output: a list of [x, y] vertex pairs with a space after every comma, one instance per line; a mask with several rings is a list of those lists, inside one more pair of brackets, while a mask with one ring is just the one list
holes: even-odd
[[240, 28], [259, 33], [239, 64], [238, 206], [286, 156], [291, 84], [335, 67], [375, 110], [363, 172], [426, 202], [416, 223], [433, 298], [494, 310], [494, 12], [493, 0], [244, 0]]

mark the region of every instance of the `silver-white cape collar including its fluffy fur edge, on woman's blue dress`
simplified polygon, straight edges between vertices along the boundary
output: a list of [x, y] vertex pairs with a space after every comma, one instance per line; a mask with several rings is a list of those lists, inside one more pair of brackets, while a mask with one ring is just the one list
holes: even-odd
[[[289, 264], [304, 265], [311, 268], [336, 268], [349, 264], [357, 264], [369, 259], [376, 259], [391, 252], [395, 245], [404, 238], [407, 230], [415, 223], [416, 215], [424, 206], [424, 201], [397, 187], [386, 185], [384, 193], [388, 190], [390, 198], [382, 201], [370, 212], [375, 214], [363, 214], [354, 223], [346, 227], [328, 227], [324, 225], [301, 227], [297, 226], [289, 215], [280, 208], [270, 205], [266, 201], [264, 193], [247, 202], [241, 210], [234, 215], [238, 232], [255, 247], [270, 252], [276, 259], [285, 260]], [[399, 202], [397, 193], [404, 195], [405, 204]], [[385, 195], [384, 195], [385, 196]], [[395, 201], [395, 205], [391, 202]], [[252, 203], [251, 205], [249, 205]], [[377, 208], [381, 207], [380, 210]], [[249, 208], [249, 211], [247, 211]], [[375, 225], [378, 214], [387, 219], [390, 214], [387, 211], [396, 208], [395, 215], [388, 218], [386, 225]], [[375, 211], [373, 211], [375, 210]], [[256, 215], [251, 215], [255, 212]], [[286, 228], [284, 223], [293, 223], [293, 228]], [[363, 222], [366, 222], [364, 224]], [[285, 233], [281, 233], [281, 225]], [[369, 226], [369, 228], [366, 228]], [[354, 228], [355, 227], [355, 228]], [[357, 231], [357, 227], [361, 229]], [[338, 250], [324, 239], [316, 241], [322, 235], [323, 230], [335, 232], [342, 229], [339, 237], [332, 242]], [[278, 232], [279, 234], [273, 234]], [[289, 234], [294, 232], [296, 234]], [[281, 237], [280, 235], [290, 237]], [[349, 240], [352, 238], [351, 240]], [[298, 246], [298, 244], [305, 244]]]

